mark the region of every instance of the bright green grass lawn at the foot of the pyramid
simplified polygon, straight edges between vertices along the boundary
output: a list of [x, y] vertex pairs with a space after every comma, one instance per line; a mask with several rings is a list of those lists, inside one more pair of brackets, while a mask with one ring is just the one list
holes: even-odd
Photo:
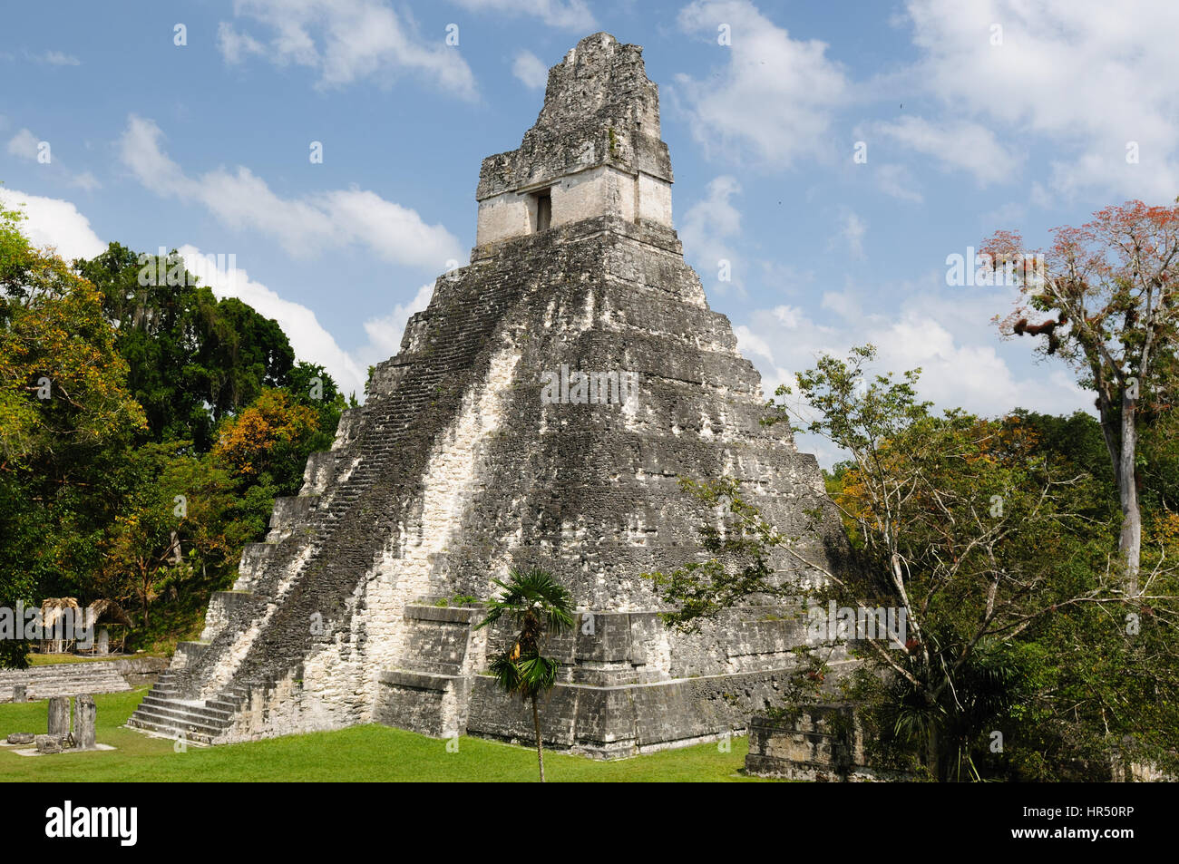
[[[536, 751], [477, 738], [446, 741], [387, 726], [274, 738], [218, 747], [189, 746], [121, 728], [146, 693], [106, 693], [98, 704], [98, 741], [117, 750], [61, 756], [17, 756], [0, 747], [0, 781], [282, 781], [282, 780], [523, 780], [536, 779]], [[44, 732], [45, 701], [0, 705], [0, 740], [9, 732]], [[585, 757], [545, 754], [549, 780], [750, 781], [740, 771], [747, 741], [733, 738], [731, 752], [700, 744], [632, 759], [602, 763]]]

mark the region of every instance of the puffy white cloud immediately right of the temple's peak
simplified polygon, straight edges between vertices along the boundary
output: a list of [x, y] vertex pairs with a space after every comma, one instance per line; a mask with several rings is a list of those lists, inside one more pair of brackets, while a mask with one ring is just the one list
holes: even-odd
[[[678, 21], [726, 59], [710, 78], [676, 78], [673, 94], [683, 93], [692, 136], [706, 152], [779, 169], [824, 154], [832, 110], [848, 90], [824, 42], [791, 39], [747, 0], [696, 0]], [[729, 47], [716, 45], [720, 22], [731, 27]]]

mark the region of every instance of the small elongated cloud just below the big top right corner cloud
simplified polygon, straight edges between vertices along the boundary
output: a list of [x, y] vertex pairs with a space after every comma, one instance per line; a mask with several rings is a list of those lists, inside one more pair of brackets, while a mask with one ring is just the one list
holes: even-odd
[[970, 172], [980, 187], [1015, 179], [1023, 161], [1000, 144], [992, 130], [977, 123], [930, 123], [921, 117], [905, 117], [900, 123], [876, 124], [874, 131], [933, 157], [943, 170]]

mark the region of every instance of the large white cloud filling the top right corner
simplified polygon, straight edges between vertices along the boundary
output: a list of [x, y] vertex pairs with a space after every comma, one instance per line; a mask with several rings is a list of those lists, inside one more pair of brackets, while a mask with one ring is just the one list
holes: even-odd
[[[1179, 4], [1135, 0], [908, 0], [916, 73], [955, 111], [1010, 139], [1055, 145], [1065, 197], [1170, 202], [1179, 190]], [[1002, 44], [992, 44], [992, 25]], [[1137, 141], [1139, 164], [1127, 164]]]

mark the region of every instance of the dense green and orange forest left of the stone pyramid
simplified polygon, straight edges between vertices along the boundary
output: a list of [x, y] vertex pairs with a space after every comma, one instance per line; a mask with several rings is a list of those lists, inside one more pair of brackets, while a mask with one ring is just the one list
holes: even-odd
[[[167, 651], [349, 402], [179, 256], [66, 263], [21, 218], [0, 210], [0, 606], [114, 600], [129, 649]], [[0, 666], [27, 648], [0, 642]]]

